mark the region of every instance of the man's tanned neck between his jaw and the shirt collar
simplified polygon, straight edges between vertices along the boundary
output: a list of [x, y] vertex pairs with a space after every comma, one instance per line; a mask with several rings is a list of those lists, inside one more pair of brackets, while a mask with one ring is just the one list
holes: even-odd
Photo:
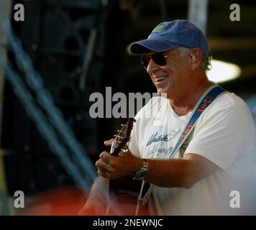
[[180, 100], [175, 101], [170, 98], [170, 105], [178, 116], [187, 115], [196, 106], [199, 98], [201, 98], [207, 88], [213, 85], [214, 83], [211, 81], [206, 81], [204, 84], [190, 88], [190, 90], [186, 92], [186, 96], [180, 98]]

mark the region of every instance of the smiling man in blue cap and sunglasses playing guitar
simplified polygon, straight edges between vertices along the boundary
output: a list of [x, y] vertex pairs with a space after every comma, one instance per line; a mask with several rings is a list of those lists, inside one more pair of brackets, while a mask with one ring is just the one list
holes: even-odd
[[[99, 181], [133, 175], [155, 185], [151, 195], [158, 215], [253, 214], [254, 125], [247, 105], [234, 93], [221, 94], [206, 108], [170, 158], [199, 99], [214, 86], [206, 75], [211, 55], [203, 32], [186, 20], [163, 22], [129, 50], [142, 55], [157, 93], [167, 96], [160, 106], [152, 98], [137, 114], [125, 155], [101, 152], [99, 179], [81, 213], [104, 210], [96, 202]], [[157, 122], [148, 116], [156, 110], [161, 114]], [[138, 172], [144, 172], [142, 178], [136, 178]]]

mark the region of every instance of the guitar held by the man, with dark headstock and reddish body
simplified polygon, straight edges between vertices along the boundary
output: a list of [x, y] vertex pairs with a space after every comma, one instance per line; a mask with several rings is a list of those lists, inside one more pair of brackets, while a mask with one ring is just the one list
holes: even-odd
[[[111, 144], [111, 155], [120, 157], [128, 151], [134, 122], [135, 119], [128, 119], [127, 124], [122, 124], [122, 129], [117, 130], [118, 134], [114, 135], [115, 139]], [[108, 180], [106, 215], [150, 215], [147, 204], [143, 206], [138, 202], [138, 197], [145, 195], [147, 188], [148, 184], [142, 186], [141, 181], [134, 180], [131, 176]]]

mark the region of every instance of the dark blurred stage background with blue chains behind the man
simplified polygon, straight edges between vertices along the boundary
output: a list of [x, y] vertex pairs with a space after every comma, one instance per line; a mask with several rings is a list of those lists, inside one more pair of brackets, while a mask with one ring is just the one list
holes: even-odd
[[[125, 120], [92, 119], [89, 97], [106, 87], [155, 92], [127, 46], [160, 22], [191, 19], [204, 30], [214, 60], [229, 63], [213, 63], [212, 80], [241, 96], [256, 120], [255, 1], [1, 0], [0, 14], [1, 215], [78, 214], [104, 140]], [[24, 208], [14, 206], [17, 190]]]

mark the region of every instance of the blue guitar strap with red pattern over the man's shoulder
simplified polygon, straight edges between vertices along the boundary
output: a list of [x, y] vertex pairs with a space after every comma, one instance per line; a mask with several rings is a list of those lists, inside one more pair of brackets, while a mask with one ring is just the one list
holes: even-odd
[[[170, 158], [173, 158], [175, 156], [176, 152], [178, 152], [178, 149], [180, 149], [182, 144], [185, 142], [186, 138], [189, 136], [189, 134], [191, 134], [191, 131], [193, 130], [193, 127], [196, 124], [196, 121], [198, 121], [199, 116], [204, 112], [204, 110], [212, 103], [212, 101], [214, 101], [215, 98], [226, 92], [227, 91], [224, 88], [221, 88], [221, 86], [218, 85], [211, 86], [207, 89], [207, 91], [204, 92], [204, 94], [198, 100], [198, 103], [196, 103], [196, 106], [192, 112], [193, 115], [191, 116], [191, 119], [189, 119], [184, 131], [180, 135], [178, 142], [175, 144], [175, 147], [173, 148], [173, 151], [170, 154]], [[144, 185], [145, 181], [142, 182], [141, 190], [143, 190]], [[152, 193], [153, 188], [154, 185], [150, 185], [150, 188], [147, 190], [147, 193], [145, 194], [144, 198], [141, 198], [141, 195], [139, 196], [137, 210], [140, 207], [141, 201], [142, 205], [145, 206], [148, 198], [150, 197], [150, 194]]]

